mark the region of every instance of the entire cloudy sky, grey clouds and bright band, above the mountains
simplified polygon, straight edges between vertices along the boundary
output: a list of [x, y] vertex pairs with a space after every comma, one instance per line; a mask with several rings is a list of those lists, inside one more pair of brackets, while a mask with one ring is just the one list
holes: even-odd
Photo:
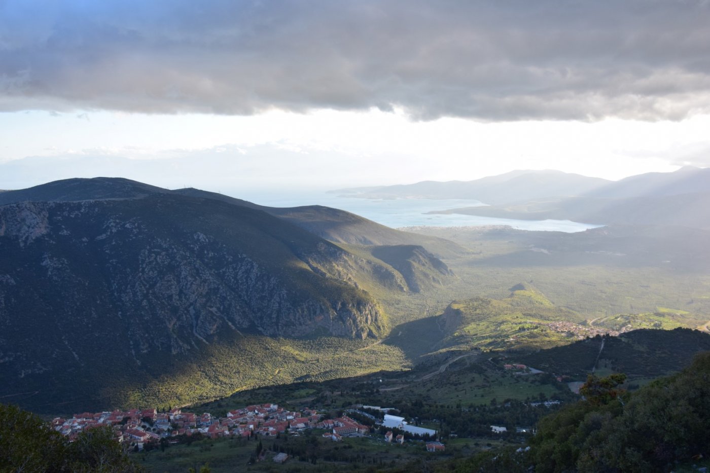
[[0, 188], [710, 165], [705, 0], [0, 0]]

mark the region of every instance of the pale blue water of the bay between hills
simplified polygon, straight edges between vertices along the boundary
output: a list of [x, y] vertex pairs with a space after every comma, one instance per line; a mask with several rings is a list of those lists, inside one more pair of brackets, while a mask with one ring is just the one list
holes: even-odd
[[326, 192], [241, 192], [234, 197], [250, 200], [270, 207], [297, 207], [300, 205], [325, 205], [347, 210], [388, 227], [478, 227], [486, 225], [509, 225], [510, 227], [547, 232], [584, 232], [600, 227], [596, 224], [571, 222], [569, 220], [513, 220], [493, 217], [476, 217], [460, 214], [427, 214], [432, 210], [447, 210], [460, 207], [474, 207], [478, 200], [459, 199], [392, 199], [372, 200], [354, 197], [340, 197]]

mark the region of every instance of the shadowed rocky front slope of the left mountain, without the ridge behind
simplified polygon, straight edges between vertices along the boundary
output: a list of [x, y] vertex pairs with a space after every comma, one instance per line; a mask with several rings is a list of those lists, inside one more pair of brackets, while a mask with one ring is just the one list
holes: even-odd
[[0, 370], [90, 365], [97, 353], [141, 364], [223, 331], [376, 336], [384, 317], [349, 261], [265, 212], [192, 197], [4, 205]]

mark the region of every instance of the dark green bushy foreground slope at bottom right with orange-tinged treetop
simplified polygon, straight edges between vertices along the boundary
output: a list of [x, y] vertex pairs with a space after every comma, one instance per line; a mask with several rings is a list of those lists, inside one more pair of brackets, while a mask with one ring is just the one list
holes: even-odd
[[635, 393], [620, 382], [589, 376], [586, 400], [542, 418], [529, 452], [509, 447], [441, 471], [670, 472], [710, 455], [710, 352]]

